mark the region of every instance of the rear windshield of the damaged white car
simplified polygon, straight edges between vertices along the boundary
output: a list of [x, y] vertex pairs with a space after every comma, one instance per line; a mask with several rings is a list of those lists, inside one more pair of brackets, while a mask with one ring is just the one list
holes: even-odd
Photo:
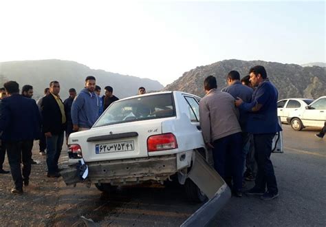
[[94, 127], [175, 116], [172, 94], [138, 96], [113, 102]]

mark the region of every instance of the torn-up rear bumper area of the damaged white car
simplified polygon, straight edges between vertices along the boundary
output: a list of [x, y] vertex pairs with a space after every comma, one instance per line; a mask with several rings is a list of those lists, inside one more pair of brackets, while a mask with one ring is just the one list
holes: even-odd
[[[89, 162], [86, 182], [110, 183], [111, 185], [139, 184], [146, 180], [164, 181], [177, 173], [179, 154], [149, 158]], [[183, 166], [185, 167], [185, 166]], [[76, 165], [69, 165], [61, 171], [65, 184], [82, 182]]]

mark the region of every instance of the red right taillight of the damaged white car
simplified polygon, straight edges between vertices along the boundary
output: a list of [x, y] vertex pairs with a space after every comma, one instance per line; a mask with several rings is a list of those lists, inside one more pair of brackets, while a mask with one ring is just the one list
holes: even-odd
[[164, 151], [177, 148], [177, 139], [173, 133], [150, 136], [147, 139], [147, 151]]

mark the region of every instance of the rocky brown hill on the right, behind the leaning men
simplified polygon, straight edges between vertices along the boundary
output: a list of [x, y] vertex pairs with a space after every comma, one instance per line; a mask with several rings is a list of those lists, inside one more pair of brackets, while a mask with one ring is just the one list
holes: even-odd
[[265, 61], [224, 60], [211, 65], [199, 66], [185, 72], [180, 78], [164, 90], [185, 91], [204, 96], [204, 78], [214, 75], [218, 89], [226, 87], [226, 76], [231, 70], [237, 70], [241, 78], [246, 76], [250, 67], [263, 65], [268, 78], [279, 89], [281, 98], [318, 98], [326, 95], [325, 67], [301, 67], [294, 64], [281, 64]]

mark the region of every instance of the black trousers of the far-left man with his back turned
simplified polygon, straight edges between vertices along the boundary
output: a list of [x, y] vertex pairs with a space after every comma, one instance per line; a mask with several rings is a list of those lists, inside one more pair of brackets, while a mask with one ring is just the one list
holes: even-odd
[[[33, 142], [34, 140], [6, 142], [12, 180], [17, 189], [23, 188], [23, 179], [29, 180], [30, 178]], [[21, 162], [23, 163], [23, 176], [21, 175]]]

